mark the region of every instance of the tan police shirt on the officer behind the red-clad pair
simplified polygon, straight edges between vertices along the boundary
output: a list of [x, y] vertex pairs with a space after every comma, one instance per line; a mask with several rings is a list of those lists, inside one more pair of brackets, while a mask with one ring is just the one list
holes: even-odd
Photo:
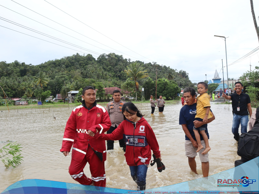
[[107, 104], [106, 110], [110, 116], [110, 120], [113, 127], [115, 127], [115, 125], [119, 126], [119, 124], [124, 120], [121, 110], [124, 103], [126, 102], [121, 100], [119, 102], [114, 102], [113, 100]]

